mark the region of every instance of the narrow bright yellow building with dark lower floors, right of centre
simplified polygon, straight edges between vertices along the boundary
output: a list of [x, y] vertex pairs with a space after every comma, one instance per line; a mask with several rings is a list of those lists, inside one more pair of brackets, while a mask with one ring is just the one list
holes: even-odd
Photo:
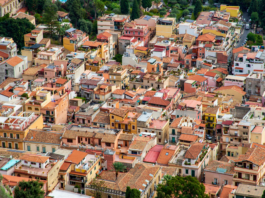
[[204, 112], [204, 121], [206, 133], [209, 135], [215, 134], [216, 120], [219, 113], [219, 107], [208, 107]]

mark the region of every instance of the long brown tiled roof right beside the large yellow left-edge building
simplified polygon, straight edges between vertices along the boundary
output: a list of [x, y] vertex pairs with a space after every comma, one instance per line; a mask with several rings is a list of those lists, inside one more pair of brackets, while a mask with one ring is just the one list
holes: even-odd
[[24, 141], [60, 145], [61, 137], [62, 133], [55, 133], [51, 131], [42, 130], [30, 130], [27, 136], [25, 137]]

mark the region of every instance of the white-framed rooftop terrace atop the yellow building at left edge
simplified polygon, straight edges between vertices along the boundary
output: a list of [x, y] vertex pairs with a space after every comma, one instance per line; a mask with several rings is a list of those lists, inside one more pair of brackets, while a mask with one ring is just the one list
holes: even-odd
[[23, 131], [33, 123], [39, 115], [28, 112], [15, 112], [8, 117], [0, 117], [0, 128]]

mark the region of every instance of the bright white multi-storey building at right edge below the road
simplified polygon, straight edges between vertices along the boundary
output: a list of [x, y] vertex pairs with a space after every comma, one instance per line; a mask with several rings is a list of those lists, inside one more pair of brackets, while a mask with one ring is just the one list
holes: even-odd
[[264, 72], [264, 61], [259, 59], [262, 52], [249, 52], [247, 54], [238, 54], [232, 68], [233, 74], [249, 74], [253, 71]]

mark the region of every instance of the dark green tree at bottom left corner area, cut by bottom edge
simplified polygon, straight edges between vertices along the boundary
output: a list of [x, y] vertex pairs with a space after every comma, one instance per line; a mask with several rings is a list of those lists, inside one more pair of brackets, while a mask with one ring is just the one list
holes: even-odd
[[39, 181], [21, 181], [14, 190], [14, 198], [43, 198], [43, 183]]

